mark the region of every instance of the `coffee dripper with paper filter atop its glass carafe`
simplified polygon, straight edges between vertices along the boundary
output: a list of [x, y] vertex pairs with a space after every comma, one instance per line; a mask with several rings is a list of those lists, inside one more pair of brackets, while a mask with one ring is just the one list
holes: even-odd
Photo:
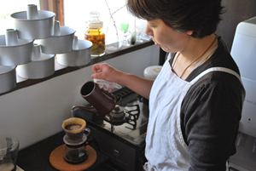
[[90, 134], [90, 128], [85, 128], [84, 119], [71, 117], [62, 123], [66, 135], [63, 137], [65, 142], [64, 159], [67, 162], [84, 162], [88, 157], [86, 150], [87, 136]]

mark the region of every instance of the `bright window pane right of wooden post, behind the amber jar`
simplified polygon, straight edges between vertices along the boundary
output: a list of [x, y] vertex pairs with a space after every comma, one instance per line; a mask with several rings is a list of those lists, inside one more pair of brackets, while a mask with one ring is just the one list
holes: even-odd
[[[100, 12], [99, 20], [103, 21], [103, 31], [105, 33], [111, 20], [110, 13], [113, 14], [113, 20], [117, 27], [120, 28], [121, 22], [128, 22], [131, 31], [134, 29], [135, 17], [127, 12], [125, 2], [126, 0], [64, 0], [65, 26], [76, 30], [75, 35], [84, 39], [85, 22], [89, 20], [89, 13], [90, 11], [97, 11]], [[136, 22], [146, 25], [145, 20], [136, 20]]]

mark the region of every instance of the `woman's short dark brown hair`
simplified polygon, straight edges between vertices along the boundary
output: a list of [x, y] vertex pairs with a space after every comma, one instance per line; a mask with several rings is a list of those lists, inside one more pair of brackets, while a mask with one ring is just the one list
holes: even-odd
[[127, 0], [137, 18], [163, 20], [176, 31], [194, 31], [192, 37], [209, 36], [217, 30], [224, 7], [221, 0]]

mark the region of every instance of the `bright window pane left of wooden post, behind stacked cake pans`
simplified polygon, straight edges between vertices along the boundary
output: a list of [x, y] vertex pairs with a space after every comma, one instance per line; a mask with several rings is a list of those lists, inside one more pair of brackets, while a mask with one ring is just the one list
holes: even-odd
[[10, 14], [26, 11], [27, 4], [36, 4], [39, 7], [39, 0], [8, 0], [0, 3], [0, 35], [5, 35], [6, 29], [13, 28], [13, 20]]

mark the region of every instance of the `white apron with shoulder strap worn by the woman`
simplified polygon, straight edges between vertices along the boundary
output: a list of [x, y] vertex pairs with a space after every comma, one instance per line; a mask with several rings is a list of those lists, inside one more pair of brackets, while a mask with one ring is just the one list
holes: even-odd
[[172, 72], [170, 55], [155, 79], [149, 95], [149, 119], [146, 137], [145, 170], [188, 170], [189, 147], [183, 140], [180, 111], [189, 88], [211, 71], [224, 71], [239, 75], [228, 68], [214, 67], [203, 71], [191, 82], [186, 82]]

